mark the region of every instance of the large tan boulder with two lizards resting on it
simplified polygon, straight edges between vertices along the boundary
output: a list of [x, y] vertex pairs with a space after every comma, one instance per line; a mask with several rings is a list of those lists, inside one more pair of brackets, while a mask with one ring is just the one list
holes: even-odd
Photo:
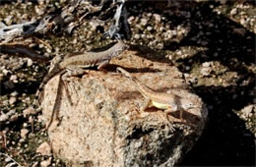
[[[108, 73], [86, 70], [69, 86], [61, 82], [58, 86], [59, 77], [47, 83], [41, 103], [44, 121], [48, 124], [52, 111], [61, 118], [48, 130], [53, 153], [71, 166], [177, 164], [200, 137], [208, 112], [182, 74], [163, 63], [163, 57], [145, 48], [133, 49], [111, 60]], [[173, 123], [175, 132], [171, 132], [163, 111], [140, 111], [145, 98], [134, 83], [116, 73], [117, 66], [156, 90], [193, 98], [197, 107], [183, 113], [193, 126]], [[178, 118], [179, 113], [172, 116]]]

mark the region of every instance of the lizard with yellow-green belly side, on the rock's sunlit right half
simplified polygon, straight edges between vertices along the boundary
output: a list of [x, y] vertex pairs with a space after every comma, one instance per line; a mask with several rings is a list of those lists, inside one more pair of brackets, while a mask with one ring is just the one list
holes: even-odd
[[127, 77], [134, 83], [136, 83], [137, 84], [136, 88], [146, 98], [145, 104], [141, 106], [140, 110], [145, 111], [148, 107], [151, 107], [151, 106], [164, 110], [167, 124], [170, 126], [172, 131], [174, 131], [174, 128], [169, 123], [169, 119], [168, 119], [169, 114], [171, 112], [180, 111], [179, 119], [176, 119], [172, 116], [170, 117], [172, 117], [175, 120], [174, 122], [185, 123], [184, 121], [182, 121], [183, 110], [186, 111], [196, 107], [193, 100], [189, 98], [181, 97], [173, 93], [158, 92], [153, 88], [151, 88], [150, 86], [142, 83], [136, 77], [133, 77], [129, 72], [125, 71], [121, 67], [116, 68], [116, 70], [121, 72], [125, 77]]

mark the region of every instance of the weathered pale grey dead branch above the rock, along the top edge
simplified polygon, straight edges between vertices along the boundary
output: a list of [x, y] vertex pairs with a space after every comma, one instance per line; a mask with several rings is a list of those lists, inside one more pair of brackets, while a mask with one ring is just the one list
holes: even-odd
[[[92, 2], [88, 0], [73, 0], [69, 5], [62, 8], [60, 12], [55, 11], [55, 13], [52, 12], [47, 14], [38, 21], [12, 25], [9, 27], [0, 23], [0, 42], [9, 42], [16, 37], [28, 36], [34, 33], [71, 33], [74, 28], [80, 26], [86, 19], [100, 19], [102, 16], [107, 15], [109, 11], [114, 10], [114, 8], [117, 8], [113, 21], [114, 25], [110, 27], [106, 35], [111, 38], [116, 35], [118, 36], [121, 30], [120, 28], [123, 27], [122, 25], [125, 27], [128, 25], [127, 21], [120, 20], [120, 16], [123, 17], [123, 15], [126, 15], [126, 10], [124, 8], [125, 0], [112, 0], [110, 7], [105, 8], [106, 10], [102, 11], [103, 7], [109, 4], [107, 2], [108, 0], [101, 0], [98, 6], [94, 6], [92, 5]], [[123, 18], [127, 19], [127, 17]]]

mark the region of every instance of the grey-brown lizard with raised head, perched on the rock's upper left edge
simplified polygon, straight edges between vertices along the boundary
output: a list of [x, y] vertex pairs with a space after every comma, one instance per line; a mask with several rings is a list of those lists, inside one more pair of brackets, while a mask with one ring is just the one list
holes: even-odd
[[[63, 78], [67, 79], [70, 76], [80, 76], [85, 73], [83, 69], [90, 67], [97, 67], [97, 70], [103, 70], [103, 68], [109, 64], [111, 58], [120, 55], [128, 47], [129, 46], [122, 40], [118, 40], [116, 44], [104, 51], [88, 51], [78, 55], [68, 55], [63, 57], [62, 59], [58, 60], [51, 71], [48, 72], [48, 74], [40, 83], [35, 93], [35, 101], [38, 104], [40, 92], [43, 90], [44, 85], [48, 83], [53, 77], [60, 75], [61, 78], [63, 76]], [[66, 73], [67, 71], [69, 73]], [[54, 114], [52, 114], [52, 117], [53, 115]], [[50, 123], [51, 122], [52, 118]], [[49, 127], [49, 125], [47, 127]]]

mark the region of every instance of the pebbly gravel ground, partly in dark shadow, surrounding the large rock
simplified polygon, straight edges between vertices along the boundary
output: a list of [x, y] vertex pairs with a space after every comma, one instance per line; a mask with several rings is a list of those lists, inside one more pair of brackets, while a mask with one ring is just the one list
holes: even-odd
[[[5, 1], [0, 4], [0, 21], [7, 25], [32, 21], [53, 4], [67, 3], [60, 2]], [[165, 54], [208, 106], [208, 126], [180, 165], [255, 166], [254, 2], [171, 1], [170, 7], [163, 2], [132, 2], [128, 12], [130, 43]], [[53, 57], [104, 45], [109, 41], [100, 41], [100, 35], [107, 26], [91, 22], [72, 35], [17, 41]], [[45, 65], [0, 54], [0, 69], [1, 166], [12, 166], [14, 160], [22, 166], [64, 166], [50, 152], [40, 113], [29, 108]]]

